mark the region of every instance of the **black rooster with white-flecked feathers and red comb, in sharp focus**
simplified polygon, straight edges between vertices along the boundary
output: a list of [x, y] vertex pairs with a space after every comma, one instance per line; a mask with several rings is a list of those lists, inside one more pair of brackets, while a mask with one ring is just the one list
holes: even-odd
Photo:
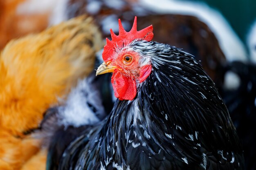
[[243, 149], [213, 81], [189, 53], [151, 41], [153, 26], [112, 30], [96, 75], [117, 101], [84, 127], [59, 170], [243, 170]]

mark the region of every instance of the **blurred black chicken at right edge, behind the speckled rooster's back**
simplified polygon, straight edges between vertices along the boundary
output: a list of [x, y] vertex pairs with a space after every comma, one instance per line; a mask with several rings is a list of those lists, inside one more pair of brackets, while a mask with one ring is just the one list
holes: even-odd
[[[238, 136], [242, 140], [245, 169], [256, 169], [256, 65], [231, 62], [222, 68], [222, 74], [232, 73], [236, 84], [233, 88], [223, 86], [219, 89]], [[227, 81], [228, 79], [226, 76]], [[237, 79], [238, 82], [234, 82]]]

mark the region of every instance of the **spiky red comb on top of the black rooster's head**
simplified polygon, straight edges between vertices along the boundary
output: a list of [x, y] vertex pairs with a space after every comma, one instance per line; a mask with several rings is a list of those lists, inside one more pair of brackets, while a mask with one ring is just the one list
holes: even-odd
[[132, 29], [129, 32], [124, 30], [124, 27], [121, 24], [121, 20], [119, 22], [119, 35], [115, 35], [115, 33], [110, 29], [110, 34], [112, 40], [110, 41], [106, 38], [107, 44], [104, 46], [104, 50], [102, 53], [102, 58], [105, 62], [112, 60], [112, 55], [115, 52], [116, 47], [119, 48], [123, 45], [126, 46], [130, 42], [135, 39], [151, 41], [153, 39], [153, 26], [150, 25], [141, 31], [137, 31], [137, 17], [135, 16]]

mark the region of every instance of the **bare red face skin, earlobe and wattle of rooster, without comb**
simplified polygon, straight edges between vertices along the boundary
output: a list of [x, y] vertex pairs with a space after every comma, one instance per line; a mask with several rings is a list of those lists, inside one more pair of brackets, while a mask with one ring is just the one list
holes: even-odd
[[[129, 63], [124, 63], [125, 56], [131, 56]], [[116, 66], [111, 82], [115, 97], [119, 100], [133, 100], [137, 93], [137, 83], [142, 83], [150, 75], [152, 66], [139, 65], [139, 54], [133, 51], [124, 51], [118, 55], [109, 65]]]

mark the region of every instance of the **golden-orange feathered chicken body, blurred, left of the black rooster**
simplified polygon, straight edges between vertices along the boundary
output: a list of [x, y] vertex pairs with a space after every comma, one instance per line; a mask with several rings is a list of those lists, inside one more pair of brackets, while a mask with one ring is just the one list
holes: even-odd
[[1, 170], [45, 169], [47, 153], [33, 131], [45, 111], [92, 72], [101, 42], [92, 18], [81, 16], [5, 46], [0, 54]]

